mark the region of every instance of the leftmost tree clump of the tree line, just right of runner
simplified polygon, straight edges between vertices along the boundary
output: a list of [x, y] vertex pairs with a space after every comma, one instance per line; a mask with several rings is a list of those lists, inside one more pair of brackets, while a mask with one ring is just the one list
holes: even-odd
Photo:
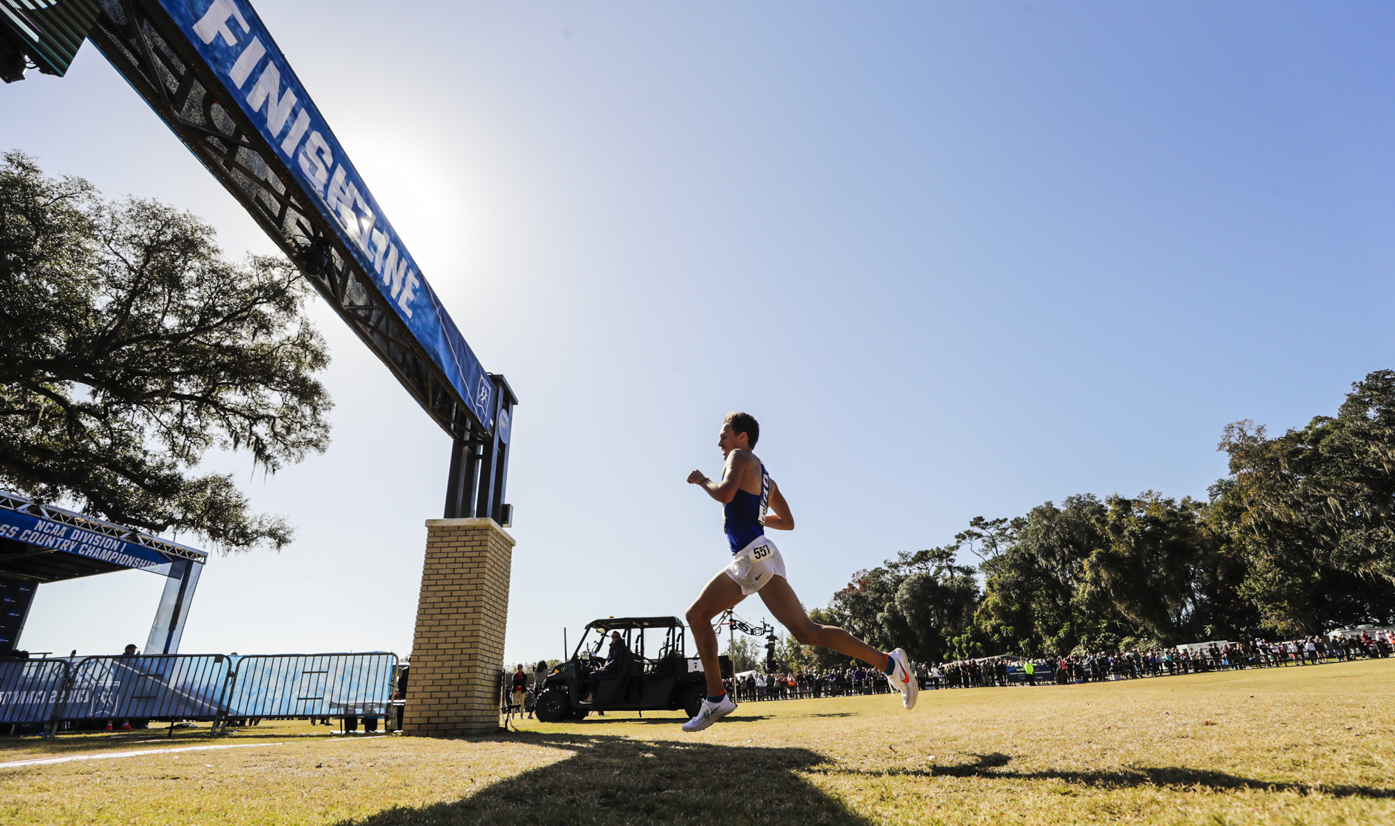
[[912, 660], [943, 660], [979, 600], [974, 568], [954, 561], [957, 550], [901, 553], [882, 568], [859, 571], [833, 596], [830, 618], [837, 622], [829, 624], [873, 646], [904, 647]]

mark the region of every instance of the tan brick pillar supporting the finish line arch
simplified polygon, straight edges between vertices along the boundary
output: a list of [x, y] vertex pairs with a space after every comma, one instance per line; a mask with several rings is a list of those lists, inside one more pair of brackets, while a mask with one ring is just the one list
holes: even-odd
[[492, 519], [427, 519], [406, 734], [499, 730], [513, 537]]

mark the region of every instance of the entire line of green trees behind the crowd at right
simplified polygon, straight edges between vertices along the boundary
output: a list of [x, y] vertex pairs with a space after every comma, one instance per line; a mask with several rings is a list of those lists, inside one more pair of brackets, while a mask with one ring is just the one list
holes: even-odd
[[[858, 571], [815, 621], [917, 661], [1288, 639], [1395, 620], [1395, 371], [1335, 417], [1226, 426], [1205, 501], [1156, 491], [971, 519], [954, 541]], [[976, 565], [960, 560], [970, 554]], [[845, 664], [787, 640], [787, 668]]]

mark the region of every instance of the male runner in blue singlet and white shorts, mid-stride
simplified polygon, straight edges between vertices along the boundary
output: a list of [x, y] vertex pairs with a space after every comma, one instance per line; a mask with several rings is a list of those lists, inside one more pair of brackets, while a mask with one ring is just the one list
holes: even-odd
[[901, 692], [901, 702], [910, 710], [915, 706], [919, 685], [905, 652], [896, 649], [882, 653], [841, 628], [815, 624], [785, 580], [784, 560], [764, 532], [767, 527], [794, 530], [794, 516], [790, 515], [790, 504], [780, 494], [780, 487], [766, 473], [766, 466], [751, 452], [759, 437], [760, 424], [755, 416], [728, 413], [721, 423], [721, 435], [717, 437], [717, 446], [727, 459], [721, 481], [707, 479], [702, 470], [688, 474], [689, 483], [702, 486], [707, 495], [721, 502], [725, 513], [723, 529], [731, 541], [732, 560], [731, 565], [713, 576], [698, 601], [688, 608], [688, 628], [692, 629], [707, 675], [707, 699], [698, 716], [684, 723], [684, 731], [702, 731], [737, 710], [737, 703], [727, 696], [721, 684], [717, 632], [713, 631], [711, 621], [757, 592], [776, 620], [801, 643], [833, 649], [880, 668], [887, 681]]

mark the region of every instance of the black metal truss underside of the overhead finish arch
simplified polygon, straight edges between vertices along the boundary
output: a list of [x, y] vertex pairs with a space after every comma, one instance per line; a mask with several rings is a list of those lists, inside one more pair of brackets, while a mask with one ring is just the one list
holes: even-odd
[[488, 427], [416, 343], [338, 230], [314, 208], [280, 158], [167, 14], [151, 0], [99, 0], [89, 38], [213, 177], [247, 209], [315, 290], [407, 392], [456, 441]]

